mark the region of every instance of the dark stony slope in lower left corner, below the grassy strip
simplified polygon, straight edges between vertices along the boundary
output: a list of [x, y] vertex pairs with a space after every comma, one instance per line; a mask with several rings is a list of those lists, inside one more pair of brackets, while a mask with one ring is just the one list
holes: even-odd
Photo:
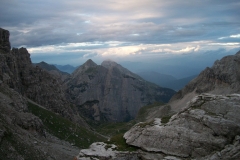
[[72, 159], [79, 151], [46, 130], [27, 99], [0, 81], [0, 159]]

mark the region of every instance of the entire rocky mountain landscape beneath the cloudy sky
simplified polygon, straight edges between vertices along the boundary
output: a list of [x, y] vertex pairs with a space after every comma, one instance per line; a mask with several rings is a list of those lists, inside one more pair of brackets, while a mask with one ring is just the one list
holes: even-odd
[[240, 51], [175, 92], [113, 61], [32, 64], [9, 36], [0, 28], [0, 159], [240, 159]]

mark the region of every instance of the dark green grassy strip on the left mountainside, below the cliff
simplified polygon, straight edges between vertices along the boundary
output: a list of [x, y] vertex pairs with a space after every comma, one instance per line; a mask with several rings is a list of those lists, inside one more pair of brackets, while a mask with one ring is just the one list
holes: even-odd
[[73, 122], [41, 108], [31, 102], [28, 102], [28, 109], [34, 115], [38, 116], [46, 130], [61, 140], [66, 140], [79, 148], [88, 148], [90, 144], [106, 139], [93, 131], [78, 126]]

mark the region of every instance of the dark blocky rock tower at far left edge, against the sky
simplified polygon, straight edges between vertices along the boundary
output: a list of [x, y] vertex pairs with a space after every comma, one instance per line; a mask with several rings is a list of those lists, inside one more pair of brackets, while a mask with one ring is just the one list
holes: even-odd
[[11, 45], [9, 42], [10, 33], [8, 30], [0, 28], [0, 50], [4, 52], [9, 52]]

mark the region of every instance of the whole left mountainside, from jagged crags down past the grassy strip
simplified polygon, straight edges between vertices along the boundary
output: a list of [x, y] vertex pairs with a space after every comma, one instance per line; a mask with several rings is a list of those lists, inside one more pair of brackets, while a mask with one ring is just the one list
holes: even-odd
[[61, 84], [33, 66], [25, 48], [11, 50], [9, 32], [0, 28], [0, 159], [72, 159], [105, 140], [89, 130]]

